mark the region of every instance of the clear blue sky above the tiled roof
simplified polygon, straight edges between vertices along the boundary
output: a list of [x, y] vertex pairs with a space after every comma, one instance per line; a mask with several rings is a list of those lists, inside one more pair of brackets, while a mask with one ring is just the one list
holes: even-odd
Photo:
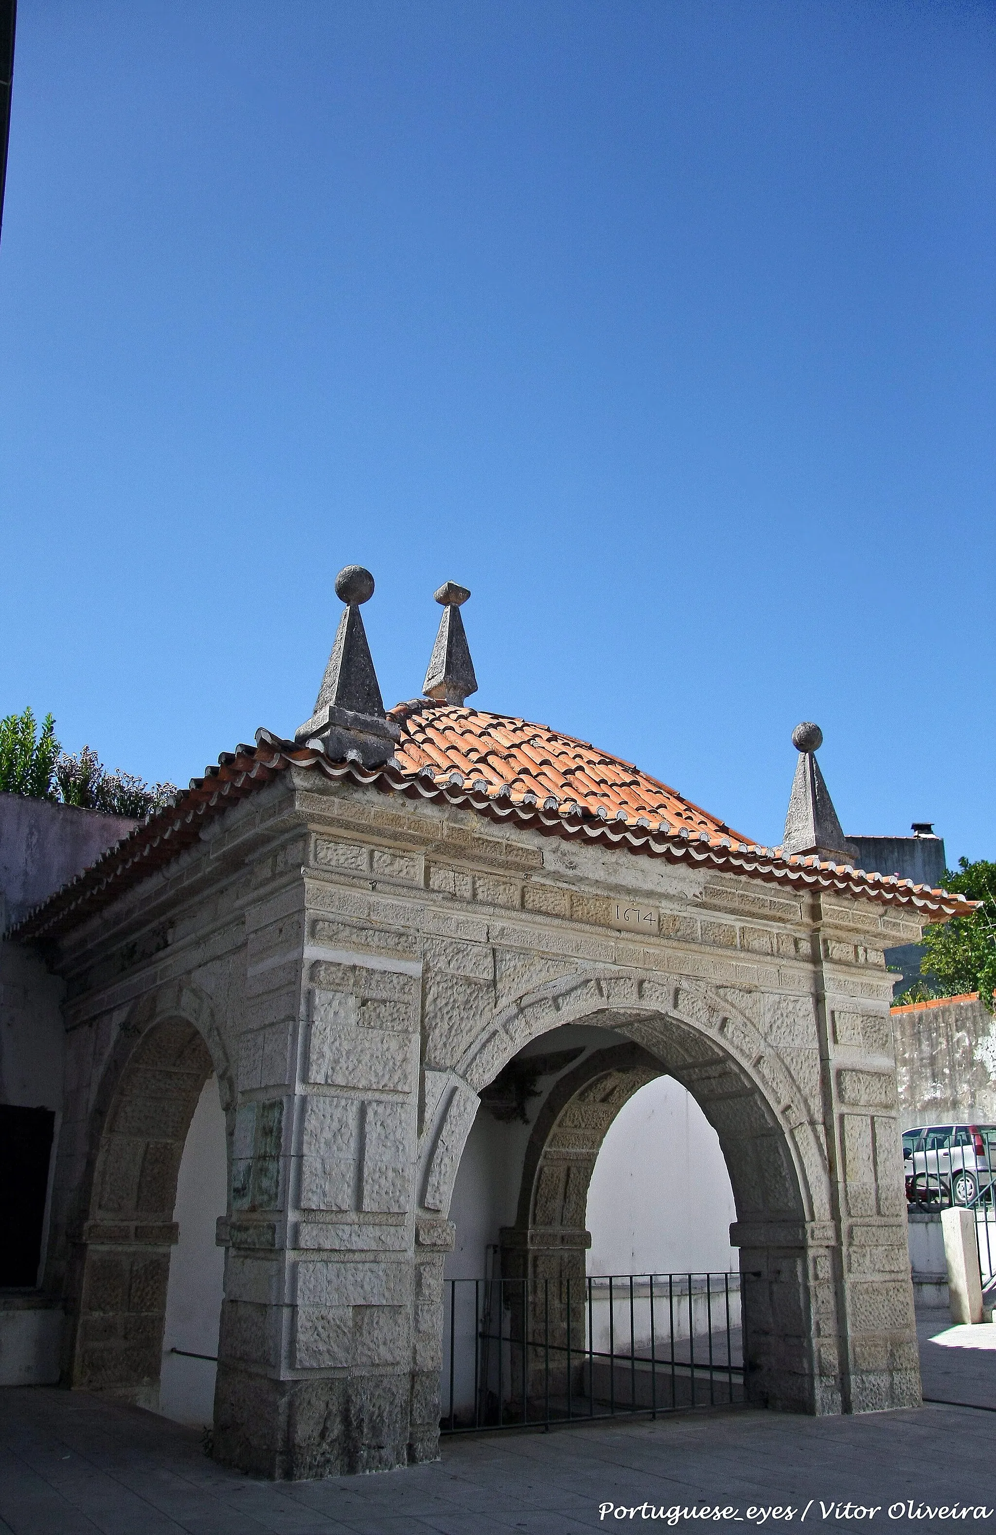
[[996, 6], [20, 0], [0, 714], [186, 783], [471, 700], [996, 858]]

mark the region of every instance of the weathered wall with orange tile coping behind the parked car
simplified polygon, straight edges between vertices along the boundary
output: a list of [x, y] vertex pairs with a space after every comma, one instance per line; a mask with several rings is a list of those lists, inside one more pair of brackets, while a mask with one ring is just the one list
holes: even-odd
[[890, 1012], [902, 1128], [996, 1125], [996, 1018], [978, 996]]

